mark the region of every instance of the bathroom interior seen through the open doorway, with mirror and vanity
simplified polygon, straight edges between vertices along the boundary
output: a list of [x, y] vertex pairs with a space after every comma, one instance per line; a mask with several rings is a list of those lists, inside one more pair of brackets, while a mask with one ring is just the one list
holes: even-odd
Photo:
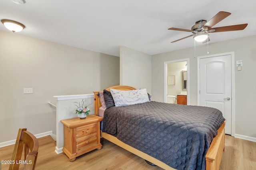
[[[189, 59], [164, 62], [164, 102], [173, 103], [174, 96], [189, 104]], [[177, 99], [175, 101], [177, 104]]]

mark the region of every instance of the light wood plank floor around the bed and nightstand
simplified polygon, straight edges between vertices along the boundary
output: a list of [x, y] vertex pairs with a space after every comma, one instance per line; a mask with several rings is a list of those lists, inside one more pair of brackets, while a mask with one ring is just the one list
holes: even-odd
[[[226, 135], [220, 170], [256, 170], [256, 143]], [[144, 159], [102, 139], [102, 149], [93, 150], [69, 162], [64, 154], [54, 152], [56, 143], [50, 136], [38, 139], [36, 170], [162, 170]], [[10, 160], [14, 145], [0, 148], [0, 160]], [[9, 165], [2, 165], [7, 170]]]

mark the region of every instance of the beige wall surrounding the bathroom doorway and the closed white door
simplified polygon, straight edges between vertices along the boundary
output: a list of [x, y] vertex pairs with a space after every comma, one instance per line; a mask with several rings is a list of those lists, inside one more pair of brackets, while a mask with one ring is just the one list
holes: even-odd
[[[182, 40], [184, 41], [184, 40]], [[242, 71], [235, 71], [235, 134], [252, 140], [256, 138], [256, 35], [209, 44], [209, 55], [232, 52], [235, 61], [242, 60]], [[197, 57], [207, 55], [207, 45], [171, 51], [152, 56], [152, 96], [154, 100], [163, 102], [164, 95], [164, 62], [190, 58], [190, 105], [197, 105]]]

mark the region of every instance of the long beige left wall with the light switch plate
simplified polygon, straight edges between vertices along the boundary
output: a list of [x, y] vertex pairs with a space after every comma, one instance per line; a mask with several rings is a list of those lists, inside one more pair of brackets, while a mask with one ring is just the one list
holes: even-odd
[[[0, 143], [18, 128], [56, 134], [53, 96], [119, 85], [119, 57], [0, 31]], [[33, 88], [33, 94], [23, 94]]]

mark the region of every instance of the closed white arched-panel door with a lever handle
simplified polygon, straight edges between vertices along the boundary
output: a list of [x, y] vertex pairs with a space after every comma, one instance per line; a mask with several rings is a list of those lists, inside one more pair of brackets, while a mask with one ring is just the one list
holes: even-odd
[[202, 58], [200, 70], [200, 106], [222, 111], [227, 120], [225, 133], [232, 130], [232, 58], [231, 55]]

